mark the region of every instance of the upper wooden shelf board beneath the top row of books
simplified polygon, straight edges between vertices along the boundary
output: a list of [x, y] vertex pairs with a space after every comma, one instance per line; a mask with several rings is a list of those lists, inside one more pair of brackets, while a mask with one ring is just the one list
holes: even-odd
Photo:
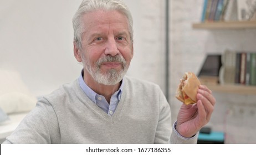
[[234, 22], [205, 22], [194, 23], [194, 29], [248, 29], [256, 28], [256, 20], [253, 21], [234, 21]]

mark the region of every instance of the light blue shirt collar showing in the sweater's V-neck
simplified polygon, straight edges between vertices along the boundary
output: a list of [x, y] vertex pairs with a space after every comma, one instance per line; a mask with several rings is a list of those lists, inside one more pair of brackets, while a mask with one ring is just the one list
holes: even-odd
[[97, 94], [93, 91], [88, 85], [85, 84], [83, 78], [84, 71], [81, 71], [79, 76], [79, 85], [84, 93], [93, 101], [96, 105], [98, 105], [103, 111], [105, 111], [108, 115], [112, 116], [116, 110], [116, 107], [121, 99], [122, 95], [122, 87], [124, 87], [124, 81], [121, 82], [121, 86], [119, 90], [117, 90], [110, 99], [110, 104], [106, 101], [105, 97]]

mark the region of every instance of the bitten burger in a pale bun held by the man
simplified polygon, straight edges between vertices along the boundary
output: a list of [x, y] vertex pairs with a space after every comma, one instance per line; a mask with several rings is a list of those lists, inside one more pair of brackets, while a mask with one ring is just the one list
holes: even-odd
[[201, 85], [197, 76], [192, 72], [186, 72], [180, 80], [175, 97], [185, 105], [195, 104], [197, 102], [197, 90]]

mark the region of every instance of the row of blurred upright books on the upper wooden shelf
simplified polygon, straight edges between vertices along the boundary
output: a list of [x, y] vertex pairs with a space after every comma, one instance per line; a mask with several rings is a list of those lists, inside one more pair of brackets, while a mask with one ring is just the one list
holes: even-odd
[[202, 22], [256, 20], [256, 0], [204, 0]]

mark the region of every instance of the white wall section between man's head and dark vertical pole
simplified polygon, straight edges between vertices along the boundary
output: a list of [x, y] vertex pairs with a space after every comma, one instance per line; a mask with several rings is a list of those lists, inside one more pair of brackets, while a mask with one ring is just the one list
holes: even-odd
[[128, 75], [165, 90], [165, 1], [125, 1], [134, 18], [134, 58]]

